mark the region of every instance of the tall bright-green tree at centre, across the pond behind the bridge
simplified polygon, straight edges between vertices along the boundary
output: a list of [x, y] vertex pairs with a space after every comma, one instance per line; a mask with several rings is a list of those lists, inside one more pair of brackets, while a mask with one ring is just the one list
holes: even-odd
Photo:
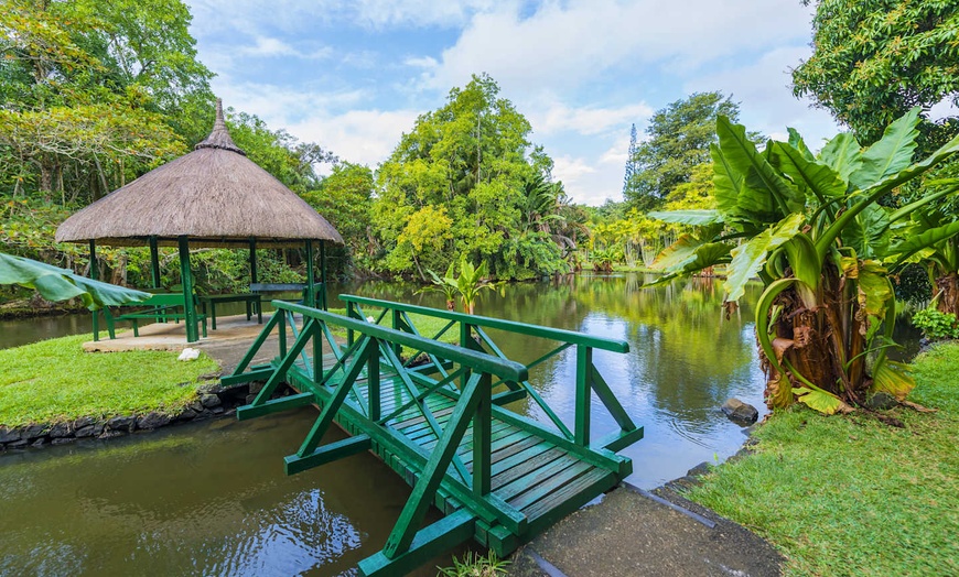
[[486, 261], [498, 277], [565, 270], [543, 228], [564, 194], [548, 182], [552, 161], [531, 146], [529, 132], [486, 75], [420, 116], [377, 174], [373, 221], [385, 266], [424, 279], [427, 269], [445, 270], [464, 255]]

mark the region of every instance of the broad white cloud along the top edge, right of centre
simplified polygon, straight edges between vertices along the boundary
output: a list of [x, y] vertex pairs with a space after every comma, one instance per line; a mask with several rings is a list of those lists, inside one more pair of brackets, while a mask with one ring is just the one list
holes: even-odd
[[546, 2], [529, 18], [510, 4], [474, 15], [431, 83], [459, 86], [486, 72], [509, 89], [563, 91], [614, 67], [682, 69], [807, 39], [808, 20], [799, 2], [768, 0], [570, 0]]

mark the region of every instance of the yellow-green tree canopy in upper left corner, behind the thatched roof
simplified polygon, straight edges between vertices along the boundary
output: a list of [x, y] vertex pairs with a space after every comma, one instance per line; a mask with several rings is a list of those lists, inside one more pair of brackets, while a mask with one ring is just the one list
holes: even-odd
[[184, 152], [212, 101], [188, 24], [179, 0], [0, 1], [0, 175], [13, 195], [88, 202]]

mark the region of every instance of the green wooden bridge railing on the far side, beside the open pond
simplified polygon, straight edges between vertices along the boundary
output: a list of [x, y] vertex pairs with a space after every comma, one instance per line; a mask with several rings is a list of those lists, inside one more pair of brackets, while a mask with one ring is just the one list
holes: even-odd
[[[506, 404], [508, 402], [528, 396], [542, 411], [552, 425], [559, 431], [559, 434], [575, 446], [582, 449], [607, 449], [611, 451], [619, 450], [643, 437], [643, 427], [638, 427], [633, 423], [633, 420], [623, 409], [622, 403], [616, 399], [606, 380], [600, 373], [593, 362], [593, 351], [607, 350], [612, 352], [625, 353], [629, 351], [629, 344], [622, 339], [611, 339], [584, 335], [572, 330], [559, 328], [543, 327], [538, 325], [528, 325], [514, 320], [505, 320], [502, 318], [492, 318], [477, 315], [467, 315], [455, 313], [452, 311], [442, 311], [406, 303], [396, 303], [391, 301], [382, 301], [378, 298], [368, 298], [356, 295], [340, 295], [340, 300], [346, 303], [346, 314], [349, 317], [363, 320], [373, 320], [371, 324], [380, 325], [384, 323], [391, 324], [392, 328], [416, 335], [421, 335], [410, 315], [422, 315], [445, 320], [445, 325], [434, 335], [428, 337], [432, 341], [443, 338], [452, 331], [461, 348], [468, 350], [477, 350], [495, 356], [500, 359], [507, 359], [503, 350], [494, 342], [486, 329], [497, 329], [524, 337], [543, 339], [551, 341], [551, 350], [540, 358], [525, 364], [527, 370], [541, 364], [550, 358], [563, 352], [564, 350], [575, 347], [577, 350], [577, 373], [575, 373], [575, 414], [573, 418], [572, 429], [560, 418], [560, 416], [549, 406], [537, 390], [530, 385], [528, 379], [510, 380], [500, 378], [493, 383], [494, 389], [505, 388], [506, 390], [495, 394], [493, 402], [495, 404]], [[379, 309], [377, 317], [367, 316], [366, 309], [373, 312], [373, 308]], [[389, 316], [389, 318], [387, 318]], [[347, 331], [347, 344], [353, 341], [352, 331]], [[441, 374], [442, 378], [448, 378], [449, 373], [443, 368], [439, 359], [430, 355], [428, 350], [418, 350], [412, 348], [412, 353], [408, 355], [407, 366], [413, 363], [420, 355], [425, 355], [429, 363], [428, 367], [433, 368]], [[399, 356], [399, 346], [394, 347], [394, 352]], [[425, 377], [417, 378], [429, 382]], [[613, 432], [605, 437], [591, 442], [591, 410], [592, 410], [592, 393], [608, 411], [610, 415], [618, 425], [619, 431]]]

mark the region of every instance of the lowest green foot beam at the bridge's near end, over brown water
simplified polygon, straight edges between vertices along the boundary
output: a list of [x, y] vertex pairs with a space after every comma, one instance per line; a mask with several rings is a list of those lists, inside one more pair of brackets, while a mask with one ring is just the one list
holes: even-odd
[[475, 526], [476, 518], [461, 509], [419, 530], [409, 551], [391, 559], [381, 551], [363, 559], [359, 573], [365, 577], [406, 575], [440, 553], [470, 541]]

